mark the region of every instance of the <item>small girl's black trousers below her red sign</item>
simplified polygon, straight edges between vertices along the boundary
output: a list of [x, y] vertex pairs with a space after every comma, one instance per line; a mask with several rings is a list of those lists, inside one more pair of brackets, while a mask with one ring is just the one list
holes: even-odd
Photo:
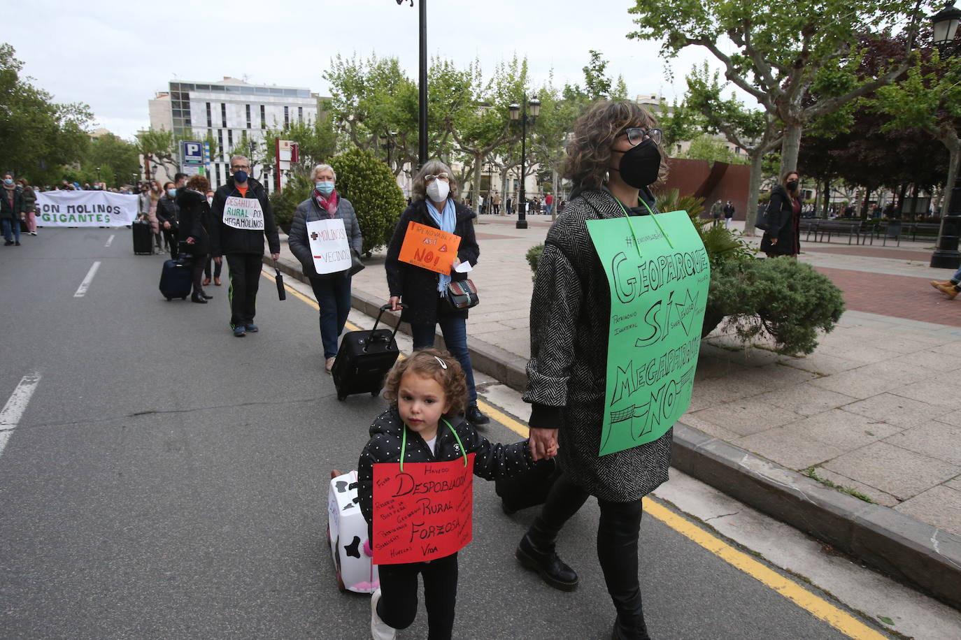
[[408, 564], [382, 564], [377, 615], [393, 628], [407, 628], [417, 617], [417, 574], [424, 577], [428, 640], [451, 640], [457, 601], [457, 555]]

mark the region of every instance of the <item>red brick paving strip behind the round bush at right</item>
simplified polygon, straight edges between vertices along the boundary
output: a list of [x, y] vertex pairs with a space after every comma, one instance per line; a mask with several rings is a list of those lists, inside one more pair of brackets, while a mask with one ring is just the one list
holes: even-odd
[[[824, 267], [815, 269], [844, 292], [845, 304], [851, 310], [961, 326], [961, 295], [950, 300], [928, 284], [929, 278]], [[946, 272], [944, 279], [949, 276], [950, 273]]]

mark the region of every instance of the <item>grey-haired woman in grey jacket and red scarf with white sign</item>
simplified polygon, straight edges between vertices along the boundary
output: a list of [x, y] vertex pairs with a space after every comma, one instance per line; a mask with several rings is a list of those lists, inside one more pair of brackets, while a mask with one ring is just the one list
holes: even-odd
[[329, 164], [318, 164], [313, 168], [314, 188], [308, 199], [297, 205], [294, 219], [290, 225], [287, 244], [294, 256], [300, 260], [304, 275], [310, 280], [313, 295], [320, 305], [320, 339], [324, 344], [324, 359], [327, 372], [333, 369], [337, 357], [337, 339], [347, 323], [351, 312], [351, 274], [317, 273], [313, 265], [313, 251], [310, 250], [307, 224], [314, 220], [340, 219], [344, 221], [351, 252], [360, 257], [363, 250], [363, 236], [357, 224], [354, 205], [337, 193], [337, 175]]

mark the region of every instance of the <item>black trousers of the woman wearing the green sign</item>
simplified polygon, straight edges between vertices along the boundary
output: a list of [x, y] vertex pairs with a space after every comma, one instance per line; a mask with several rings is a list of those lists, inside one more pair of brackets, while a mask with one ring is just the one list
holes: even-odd
[[[588, 493], [561, 474], [548, 494], [544, 509], [530, 527], [531, 541], [539, 548], [554, 548], [564, 523], [578, 512]], [[610, 502], [598, 498], [601, 521], [597, 550], [607, 593], [622, 623], [628, 628], [643, 621], [641, 585], [637, 577], [637, 539], [641, 530], [641, 501]]]

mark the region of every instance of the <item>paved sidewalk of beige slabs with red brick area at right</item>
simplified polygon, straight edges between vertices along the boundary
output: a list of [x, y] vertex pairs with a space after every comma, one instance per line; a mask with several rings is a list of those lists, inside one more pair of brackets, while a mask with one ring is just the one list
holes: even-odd
[[[529, 216], [528, 229], [516, 229], [515, 220], [481, 216], [478, 221], [480, 264], [471, 277], [481, 302], [471, 310], [468, 344], [476, 368], [519, 389], [530, 356], [532, 283], [525, 253], [543, 241], [550, 219]], [[854, 528], [842, 533], [836, 546], [847, 549], [847, 538], [867, 535], [850, 523], [871, 520], [874, 529], [883, 530], [877, 534], [899, 539], [899, 549], [882, 545], [861, 549], [859, 555], [887, 556], [868, 559], [958, 605], [961, 396], [955, 390], [961, 385], [961, 296], [949, 300], [928, 284], [951, 274], [927, 267], [932, 245], [802, 242], [801, 260], [844, 291], [848, 311], [818, 349], [802, 358], [777, 355], [767, 344], [745, 347], [723, 326], [715, 330], [702, 343], [691, 406], [677, 430], [676, 464], [698, 476], [694, 467], [727, 457], [727, 466], [739, 470], [742, 478], [751, 475], [752, 482], [786, 473], [783, 478], [792, 486], [788, 493], [801, 493], [808, 502], [814, 480], [846, 487], [875, 506], [834, 489], [819, 494], [819, 500], [830, 503], [824, 510], [847, 510], [845, 527]], [[290, 272], [300, 272], [285, 239], [282, 262]], [[369, 312], [388, 295], [382, 252], [365, 263], [367, 268], [354, 278], [353, 293], [355, 306]], [[724, 453], [718, 453], [722, 449]], [[744, 462], [748, 456], [756, 462]], [[760, 467], [768, 470], [758, 472]], [[713, 474], [716, 482], [711, 484], [732, 494], [751, 484], [732, 480], [722, 486], [723, 474], [707, 468], [701, 479], [711, 483], [703, 476]], [[769, 489], [772, 486], [755, 492]], [[864, 511], [869, 508], [870, 515]], [[785, 513], [786, 521], [799, 517], [801, 525], [792, 524], [834, 539], [832, 532], [822, 530], [835, 525], [807, 526], [814, 516], [802, 507], [793, 509], [800, 515]], [[848, 550], [858, 553], [857, 540], [848, 541]], [[923, 547], [927, 559], [893, 558], [900, 547]], [[911, 568], [899, 566], [901, 560], [933, 564]], [[915, 575], [952, 565], [956, 573], [947, 576], [942, 571], [938, 585]]]

